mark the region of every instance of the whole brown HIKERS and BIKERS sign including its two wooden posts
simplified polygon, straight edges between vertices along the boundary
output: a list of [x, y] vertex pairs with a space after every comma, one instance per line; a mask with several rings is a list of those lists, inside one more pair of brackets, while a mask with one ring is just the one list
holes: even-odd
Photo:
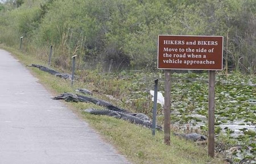
[[208, 155], [214, 157], [215, 71], [222, 70], [222, 36], [158, 36], [158, 69], [165, 70], [164, 142], [170, 145], [170, 70], [209, 70]]

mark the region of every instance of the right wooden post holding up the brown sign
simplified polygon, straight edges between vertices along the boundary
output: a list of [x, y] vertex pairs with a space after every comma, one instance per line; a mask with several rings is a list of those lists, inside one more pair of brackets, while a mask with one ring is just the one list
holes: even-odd
[[208, 156], [214, 157], [214, 85], [215, 71], [209, 70], [209, 93], [208, 93]]

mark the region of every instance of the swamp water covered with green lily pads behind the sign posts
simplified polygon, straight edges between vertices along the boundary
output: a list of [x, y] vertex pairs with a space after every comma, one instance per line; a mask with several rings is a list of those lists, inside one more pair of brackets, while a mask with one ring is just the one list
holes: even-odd
[[[142, 77], [138, 85], [153, 83], [156, 78], [148, 79]], [[171, 81], [171, 124], [183, 132], [197, 130], [207, 134], [208, 74], [174, 73]], [[256, 76], [217, 74], [215, 81], [216, 141], [227, 145], [222, 151], [230, 153], [233, 162], [246, 158], [256, 163]], [[145, 96], [152, 88], [134, 93]], [[164, 77], [160, 77], [159, 91], [163, 90]], [[161, 115], [163, 109], [158, 106], [158, 116]]]

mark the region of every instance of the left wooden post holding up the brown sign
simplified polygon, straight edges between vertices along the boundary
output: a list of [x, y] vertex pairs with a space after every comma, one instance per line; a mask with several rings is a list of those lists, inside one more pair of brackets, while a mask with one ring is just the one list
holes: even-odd
[[164, 70], [164, 143], [170, 145], [171, 70]]

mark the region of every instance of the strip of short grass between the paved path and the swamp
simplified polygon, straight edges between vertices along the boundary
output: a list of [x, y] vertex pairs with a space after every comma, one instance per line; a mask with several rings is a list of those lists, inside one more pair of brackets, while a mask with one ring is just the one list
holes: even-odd
[[[37, 61], [31, 55], [24, 55], [20, 51], [5, 48], [11, 51], [14, 56], [24, 65], [31, 63], [43, 64]], [[54, 95], [63, 92], [72, 92], [71, 82], [59, 79], [38, 68], [29, 67], [31, 73], [38, 77], [48, 90]], [[101, 85], [104, 84], [98, 81]], [[84, 84], [81, 81], [75, 81], [75, 86], [94, 88], [93, 81]], [[97, 94], [96, 94], [97, 95]], [[98, 95], [100, 96], [100, 95]], [[64, 102], [64, 101], [63, 101]], [[132, 163], [225, 163], [222, 158], [210, 158], [207, 156], [207, 147], [197, 146], [195, 143], [171, 136], [171, 145], [164, 144], [163, 132], [156, 132], [151, 135], [148, 128], [135, 126], [134, 124], [123, 120], [111, 118], [108, 116], [98, 116], [86, 114], [82, 109], [88, 107], [97, 107], [91, 103], [66, 103], [77, 115], [90, 124], [100, 135], [109, 143], [114, 145], [119, 153], [123, 154]]]

